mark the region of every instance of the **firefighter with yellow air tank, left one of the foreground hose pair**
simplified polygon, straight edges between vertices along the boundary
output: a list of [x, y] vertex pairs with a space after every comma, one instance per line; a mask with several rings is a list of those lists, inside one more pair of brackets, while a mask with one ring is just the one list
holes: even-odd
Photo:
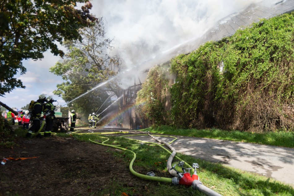
[[[32, 126], [29, 128], [26, 138], [31, 138], [33, 132], [38, 132], [38, 130], [41, 128], [40, 125], [40, 118], [41, 113], [44, 109], [44, 102], [46, 101], [46, 94], [42, 94], [39, 96], [39, 99], [33, 104], [32, 108], [32, 114], [31, 114], [31, 120], [32, 120]], [[39, 133], [37, 138], [42, 138], [41, 133]]]

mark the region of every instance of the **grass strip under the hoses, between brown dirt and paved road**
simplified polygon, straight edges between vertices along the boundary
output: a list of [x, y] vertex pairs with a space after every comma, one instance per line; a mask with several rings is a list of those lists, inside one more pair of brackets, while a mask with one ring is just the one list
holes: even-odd
[[[59, 134], [58, 134], [59, 135]], [[82, 141], [89, 142], [89, 138], [93, 141], [102, 142], [106, 138], [101, 138], [94, 134], [72, 134], [73, 137]], [[154, 147], [149, 144], [140, 144], [135, 141], [128, 140], [123, 137], [105, 136], [110, 140], [107, 144], [120, 144], [120, 147], [128, 148], [136, 153], [136, 161], [133, 168], [136, 172], [146, 174], [153, 171], [156, 176], [171, 177], [166, 170], [166, 160], [170, 156], [166, 151], [160, 147]], [[98, 144], [97, 144], [98, 145]], [[172, 144], [171, 144], [172, 145]], [[129, 164], [132, 160], [132, 153], [128, 151], [112, 151], [114, 156], [125, 161], [125, 164]], [[202, 183], [210, 189], [218, 192], [222, 195], [294, 195], [292, 186], [285, 185], [281, 182], [275, 181], [270, 178], [255, 175], [253, 173], [244, 172], [238, 169], [223, 166], [221, 164], [213, 164], [204, 160], [195, 159], [191, 156], [177, 154], [179, 158], [192, 165], [192, 163], [198, 163], [200, 169], [198, 175]], [[179, 160], [176, 158], [173, 164], [177, 164]], [[181, 168], [176, 167], [178, 171]], [[192, 171], [191, 171], [192, 174]], [[136, 178], [134, 176], [134, 178]], [[115, 181], [114, 181], [115, 182]], [[138, 195], [135, 190], [139, 190], [139, 187], [127, 187], [124, 185], [126, 182], [115, 182], [105, 190], [103, 194], [116, 195], [118, 193], [125, 192], [130, 195]], [[182, 185], [172, 185], [163, 182], [147, 182], [146, 190], [139, 195], [204, 195], [191, 187], [185, 187]], [[115, 187], [115, 193], [113, 193]], [[111, 193], [111, 194], [109, 194]], [[113, 193], [113, 194], [112, 194]]]

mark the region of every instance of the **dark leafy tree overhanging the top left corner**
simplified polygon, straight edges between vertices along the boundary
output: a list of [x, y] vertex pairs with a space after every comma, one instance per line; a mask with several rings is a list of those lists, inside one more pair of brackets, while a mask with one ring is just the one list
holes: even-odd
[[41, 59], [48, 49], [63, 56], [57, 42], [81, 40], [78, 30], [97, 21], [91, 8], [87, 0], [0, 0], [0, 95], [25, 88], [15, 78], [26, 72], [22, 60]]

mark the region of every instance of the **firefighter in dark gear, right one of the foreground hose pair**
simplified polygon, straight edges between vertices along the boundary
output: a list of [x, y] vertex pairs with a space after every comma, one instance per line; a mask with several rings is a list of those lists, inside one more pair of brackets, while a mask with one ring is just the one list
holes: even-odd
[[52, 96], [47, 97], [47, 103], [44, 106], [44, 113], [50, 113], [48, 116], [46, 116], [46, 127], [44, 131], [44, 137], [50, 137], [51, 131], [53, 130], [53, 121], [54, 121], [54, 110], [55, 106], [52, 104], [55, 100], [52, 98]]

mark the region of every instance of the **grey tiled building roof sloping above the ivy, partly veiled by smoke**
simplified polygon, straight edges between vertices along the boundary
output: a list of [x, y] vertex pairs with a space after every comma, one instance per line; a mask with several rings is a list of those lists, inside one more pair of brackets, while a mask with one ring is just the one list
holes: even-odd
[[[260, 19], [269, 19], [278, 15], [292, 12], [294, 10], [294, 0], [283, 0], [275, 4], [269, 4], [268, 1], [253, 3], [244, 10], [233, 13], [220, 19], [217, 25], [210, 28], [201, 38], [192, 40], [185, 45], [181, 45], [166, 56], [165, 61], [170, 60], [178, 54], [190, 53], [196, 50], [200, 45], [208, 41], [219, 41], [224, 37], [232, 36], [240, 28], [246, 28]], [[157, 64], [163, 63], [159, 62]]]

